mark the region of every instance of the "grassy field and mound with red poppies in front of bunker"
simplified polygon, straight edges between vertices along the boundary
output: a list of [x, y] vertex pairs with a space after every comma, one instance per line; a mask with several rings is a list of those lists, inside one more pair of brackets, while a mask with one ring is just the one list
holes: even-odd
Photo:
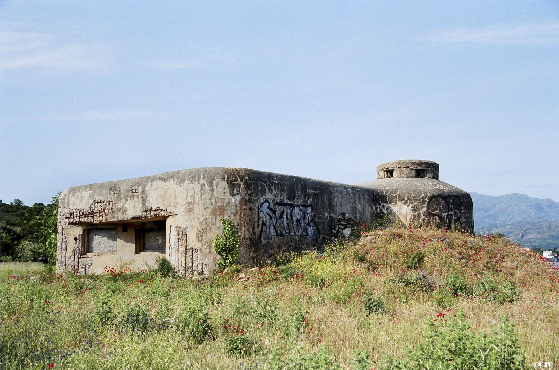
[[2, 368], [559, 363], [559, 272], [505, 238], [392, 227], [209, 277], [159, 265], [100, 276], [2, 265]]

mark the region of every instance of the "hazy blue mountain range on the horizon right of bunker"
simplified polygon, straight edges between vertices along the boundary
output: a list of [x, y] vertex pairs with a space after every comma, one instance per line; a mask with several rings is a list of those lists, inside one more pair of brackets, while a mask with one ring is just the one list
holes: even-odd
[[476, 232], [504, 232], [525, 247], [559, 249], [558, 202], [518, 193], [470, 195]]

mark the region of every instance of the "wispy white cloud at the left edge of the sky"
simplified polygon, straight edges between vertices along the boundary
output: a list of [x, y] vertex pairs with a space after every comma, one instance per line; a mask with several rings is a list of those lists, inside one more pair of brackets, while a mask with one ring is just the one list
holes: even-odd
[[105, 46], [70, 42], [55, 33], [2, 32], [0, 35], [2, 70], [101, 70], [107, 66], [106, 56]]

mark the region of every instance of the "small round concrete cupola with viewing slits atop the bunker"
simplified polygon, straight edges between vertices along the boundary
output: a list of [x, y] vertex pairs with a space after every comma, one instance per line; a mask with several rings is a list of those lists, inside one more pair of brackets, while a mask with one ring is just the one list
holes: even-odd
[[439, 165], [433, 161], [401, 160], [377, 166], [377, 180], [381, 179], [439, 179]]

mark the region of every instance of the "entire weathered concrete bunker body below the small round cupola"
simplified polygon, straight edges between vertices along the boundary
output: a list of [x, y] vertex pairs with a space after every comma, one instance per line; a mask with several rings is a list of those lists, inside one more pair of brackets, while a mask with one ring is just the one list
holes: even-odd
[[[220, 258], [212, 242], [222, 232], [221, 218], [239, 229], [240, 262], [253, 264], [279, 251], [323, 246], [337, 224], [367, 222], [381, 213], [409, 225], [473, 230], [470, 195], [435, 179], [346, 185], [248, 169], [192, 169], [63, 191], [56, 268], [138, 270], [165, 256], [181, 275], [206, 274]], [[156, 223], [164, 228], [144, 233], [146, 246], [139, 250], [135, 230], [152, 230]], [[116, 253], [105, 241], [93, 251], [84, 248], [101, 227], [117, 229]], [[151, 251], [161, 236], [164, 253]]]

